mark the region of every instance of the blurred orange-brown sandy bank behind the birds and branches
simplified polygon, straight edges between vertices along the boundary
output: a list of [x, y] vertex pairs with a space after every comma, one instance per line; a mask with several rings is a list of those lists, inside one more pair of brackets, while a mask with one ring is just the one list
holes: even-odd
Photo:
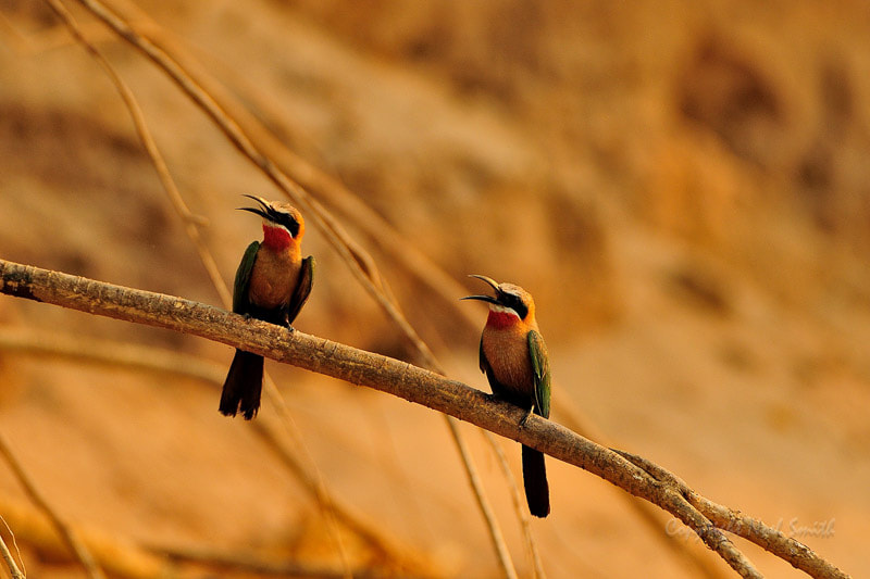
[[[149, 62], [70, 4], [140, 99], [232, 281], [259, 236], [234, 211], [239, 194], [279, 193]], [[529, 289], [556, 420], [563, 401], [714, 501], [790, 532], [826, 525], [831, 536], [800, 540], [855, 577], [870, 570], [866, 2], [112, 5], [162, 26], [468, 292], [480, 290], [470, 273]], [[3, 0], [0, 15], [0, 256], [219, 304], [103, 72], [40, 2]], [[374, 247], [359, 214], [324, 202], [451, 376], [485, 389], [476, 330]], [[406, 355], [321, 231], [309, 228], [303, 249], [320, 268], [297, 327]], [[482, 325], [483, 307], [465, 305]], [[232, 358], [200, 339], [12, 298], [0, 299], [0, 323], [7, 335], [145, 344], [219, 369]], [[331, 491], [424, 562], [420, 572], [499, 576], [439, 416], [266, 368]], [[217, 414], [217, 398], [192, 379], [0, 350], [0, 429], [70, 520], [140, 545], [340, 568], [316, 505], [251, 425]], [[261, 417], [275, 412], [266, 404]], [[529, 577], [497, 463], [475, 429], [463, 432]], [[519, 476], [518, 445], [502, 446]], [[548, 577], [699, 576], [620, 491], [548, 466], [552, 515], [533, 523]], [[28, 504], [5, 466], [0, 504]], [[82, 576], [17, 534], [32, 577]], [[766, 576], [800, 576], [738, 545]], [[350, 557], [389, 570], [362, 547]]]

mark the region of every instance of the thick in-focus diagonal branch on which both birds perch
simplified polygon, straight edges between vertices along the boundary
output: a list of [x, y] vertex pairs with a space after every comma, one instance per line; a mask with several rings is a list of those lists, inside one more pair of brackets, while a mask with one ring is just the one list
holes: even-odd
[[[732, 511], [692, 491], [667, 470], [624, 452], [606, 449], [539, 416], [524, 427], [522, 408], [494, 400], [462, 382], [406, 362], [365, 352], [181, 298], [103, 284], [0, 260], [0, 293], [52, 303], [90, 314], [191, 333], [365, 386], [469, 421], [577, 466], [668, 511], [742, 577], [761, 577], [722, 529]], [[741, 519], [743, 520], [743, 519]], [[747, 530], [748, 521], [755, 531]], [[820, 578], [846, 574], [811, 550], [754, 519], [738, 531], [796, 568]], [[726, 530], [732, 530], [726, 527]], [[763, 530], [763, 532], [762, 532]], [[807, 556], [795, 557], [799, 551]]]

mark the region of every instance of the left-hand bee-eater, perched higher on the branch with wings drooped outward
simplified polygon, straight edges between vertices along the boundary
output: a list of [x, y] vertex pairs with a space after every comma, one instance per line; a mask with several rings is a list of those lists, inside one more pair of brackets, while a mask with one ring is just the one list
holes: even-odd
[[[300, 249], [304, 219], [287, 203], [243, 197], [259, 205], [238, 209], [263, 218], [263, 240], [248, 246], [236, 269], [233, 312], [293, 331], [291, 324], [308, 300], [314, 278], [314, 257], [303, 260]], [[250, 420], [260, 410], [262, 388], [263, 356], [237, 349], [221, 392], [221, 414], [240, 412]]]

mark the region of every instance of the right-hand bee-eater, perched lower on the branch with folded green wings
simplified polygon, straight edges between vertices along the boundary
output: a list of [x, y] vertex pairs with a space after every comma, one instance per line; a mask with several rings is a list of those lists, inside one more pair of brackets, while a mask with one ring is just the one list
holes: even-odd
[[[462, 298], [489, 304], [489, 316], [481, 335], [480, 365], [493, 395], [527, 411], [521, 427], [533, 412], [549, 418], [549, 360], [535, 320], [532, 294], [513, 284], [498, 284], [476, 274], [470, 277], [485, 281], [496, 293]], [[546, 517], [550, 513], [550, 493], [544, 454], [523, 445], [522, 463], [529, 511], [536, 517]]]

